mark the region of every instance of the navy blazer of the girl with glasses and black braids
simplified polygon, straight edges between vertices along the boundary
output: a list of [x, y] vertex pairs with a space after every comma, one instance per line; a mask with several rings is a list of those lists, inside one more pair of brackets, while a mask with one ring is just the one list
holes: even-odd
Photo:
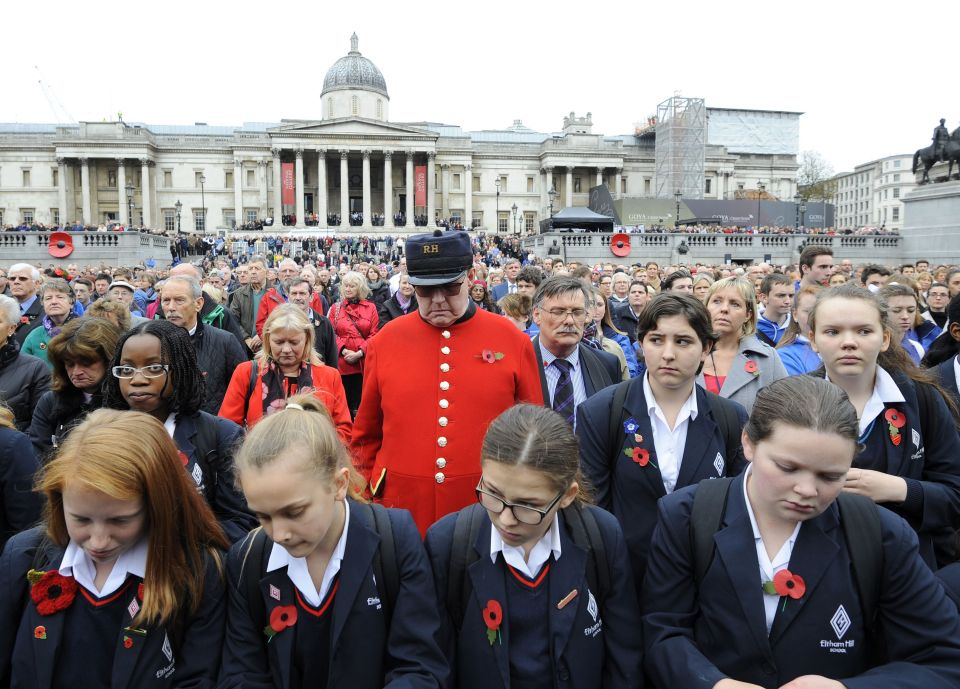
[[[217, 425], [217, 451], [208, 455], [207, 465], [216, 476], [205, 476], [203, 467], [197, 464], [197, 421]], [[198, 490], [207, 499], [207, 504], [220, 522], [227, 540], [236, 543], [257, 525], [257, 519], [247, 509], [247, 501], [233, 482], [233, 452], [243, 439], [243, 429], [230, 419], [206, 412], [191, 416], [177, 415], [173, 442], [187, 457], [185, 469], [197, 484]]]

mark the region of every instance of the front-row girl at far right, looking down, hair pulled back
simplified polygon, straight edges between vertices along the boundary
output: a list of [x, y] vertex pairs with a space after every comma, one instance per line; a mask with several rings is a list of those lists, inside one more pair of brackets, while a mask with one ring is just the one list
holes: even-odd
[[660, 501], [643, 596], [656, 686], [960, 686], [957, 610], [916, 534], [860, 496], [837, 504], [859, 435], [840, 388], [785, 378], [757, 395], [744, 474]]

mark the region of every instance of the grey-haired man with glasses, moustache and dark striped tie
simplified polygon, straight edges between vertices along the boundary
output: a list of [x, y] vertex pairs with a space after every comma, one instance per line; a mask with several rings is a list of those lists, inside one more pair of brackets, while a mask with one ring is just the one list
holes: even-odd
[[544, 280], [533, 297], [533, 321], [540, 328], [533, 349], [543, 399], [571, 425], [584, 400], [620, 381], [617, 358], [582, 342], [587, 299], [583, 283], [566, 276]]

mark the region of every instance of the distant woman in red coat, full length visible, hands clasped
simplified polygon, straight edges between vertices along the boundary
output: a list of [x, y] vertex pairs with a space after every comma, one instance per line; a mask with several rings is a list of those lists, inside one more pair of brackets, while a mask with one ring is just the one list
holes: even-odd
[[340, 280], [340, 301], [327, 312], [337, 334], [337, 351], [340, 353], [337, 368], [343, 378], [351, 416], [356, 416], [360, 407], [367, 342], [380, 327], [377, 306], [367, 299], [369, 295], [370, 288], [363, 275], [351, 271]]

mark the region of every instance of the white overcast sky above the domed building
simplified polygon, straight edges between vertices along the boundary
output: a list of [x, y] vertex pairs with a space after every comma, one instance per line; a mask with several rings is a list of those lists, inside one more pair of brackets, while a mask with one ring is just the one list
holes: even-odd
[[[625, 134], [675, 92], [801, 111], [800, 149], [839, 172], [960, 125], [950, 3], [4, 3], [0, 122], [239, 125], [320, 119], [327, 69], [360, 38], [390, 119]], [[934, 39], [935, 36], [940, 36]], [[951, 57], [952, 56], [952, 57]]]

